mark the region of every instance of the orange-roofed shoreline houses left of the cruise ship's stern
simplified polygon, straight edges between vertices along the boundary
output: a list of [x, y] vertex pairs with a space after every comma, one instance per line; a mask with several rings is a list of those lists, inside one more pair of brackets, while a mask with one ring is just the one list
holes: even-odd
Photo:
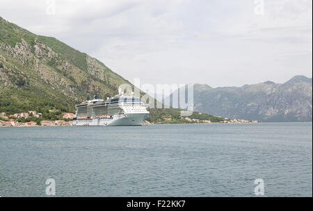
[[[51, 112], [54, 112], [51, 110]], [[72, 126], [73, 113], [65, 112], [62, 114], [62, 119], [58, 120], [41, 120], [41, 121], [25, 121], [30, 117], [40, 118], [42, 113], [30, 110], [29, 112], [15, 113], [6, 115], [6, 112], [1, 112], [0, 127], [29, 127], [29, 126]], [[25, 122], [21, 121], [24, 120]]]

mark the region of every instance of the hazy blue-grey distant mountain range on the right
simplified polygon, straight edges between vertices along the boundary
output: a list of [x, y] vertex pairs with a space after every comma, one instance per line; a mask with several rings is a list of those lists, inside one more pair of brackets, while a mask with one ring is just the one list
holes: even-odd
[[242, 87], [195, 84], [193, 92], [198, 112], [258, 121], [312, 121], [312, 78], [305, 76], [283, 84], [266, 81]]

